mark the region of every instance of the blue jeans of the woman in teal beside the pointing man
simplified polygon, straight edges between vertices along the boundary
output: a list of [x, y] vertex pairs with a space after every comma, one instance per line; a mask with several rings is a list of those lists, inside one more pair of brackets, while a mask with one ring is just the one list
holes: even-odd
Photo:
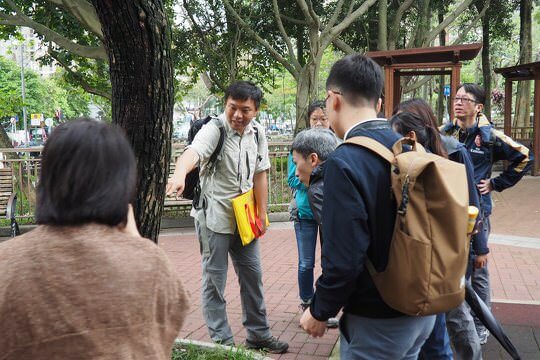
[[298, 245], [298, 288], [300, 299], [304, 303], [311, 301], [313, 297], [313, 268], [318, 227], [313, 219], [298, 219], [294, 222]]

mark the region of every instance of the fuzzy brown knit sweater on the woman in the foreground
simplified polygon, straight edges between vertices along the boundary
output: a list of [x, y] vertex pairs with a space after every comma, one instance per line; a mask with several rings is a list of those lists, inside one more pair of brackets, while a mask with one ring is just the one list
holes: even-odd
[[115, 228], [0, 243], [0, 360], [170, 359], [187, 307], [163, 250]]

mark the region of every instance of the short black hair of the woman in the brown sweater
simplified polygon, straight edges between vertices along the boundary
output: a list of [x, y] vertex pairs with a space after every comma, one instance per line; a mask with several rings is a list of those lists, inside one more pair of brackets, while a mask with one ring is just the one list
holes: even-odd
[[43, 148], [37, 223], [125, 224], [136, 171], [135, 156], [119, 127], [90, 118], [58, 126]]

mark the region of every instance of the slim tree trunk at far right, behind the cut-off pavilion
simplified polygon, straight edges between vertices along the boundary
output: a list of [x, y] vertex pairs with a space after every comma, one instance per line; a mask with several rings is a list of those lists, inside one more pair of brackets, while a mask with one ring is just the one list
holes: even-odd
[[[521, 0], [519, 15], [519, 63], [526, 64], [531, 62], [532, 42], [531, 42], [531, 13], [532, 0]], [[530, 81], [519, 81], [516, 96], [516, 115], [514, 118], [514, 127], [529, 126], [529, 117], [531, 112], [531, 83]]]

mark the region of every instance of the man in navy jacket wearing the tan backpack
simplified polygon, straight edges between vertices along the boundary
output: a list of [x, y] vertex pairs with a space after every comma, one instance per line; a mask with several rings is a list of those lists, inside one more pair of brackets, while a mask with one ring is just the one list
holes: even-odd
[[[330, 125], [344, 140], [371, 137], [391, 148], [399, 136], [378, 119], [383, 76], [362, 55], [334, 64], [326, 81]], [[322, 275], [311, 306], [300, 320], [304, 330], [322, 336], [325, 321], [343, 309], [341, 359], [416, 359], [435, 316], [411, 317], [390, 308], [365, 266], [388, 262], [396, 205], [390, 165], [368, 149], [343, 144], [326, 161], [323, 205]]]

